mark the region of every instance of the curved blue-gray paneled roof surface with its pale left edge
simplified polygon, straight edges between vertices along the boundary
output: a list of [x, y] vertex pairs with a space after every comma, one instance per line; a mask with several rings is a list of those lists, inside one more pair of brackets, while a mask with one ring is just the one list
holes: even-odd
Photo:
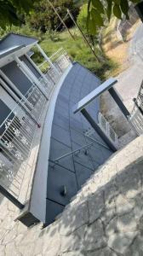
[[[51, 99], [31, 194], [30, 211], [43, 223], [54, 221], [83, 183], [112, 154], [97, 133], [90, 138], [86, 136], [91, 126], [80, 113], [72, 113], [74, 104], [99, 84], [100, 79], [93, 73], [74, 63]], [[89, 113], [96, 121], [99, 111], [100, 99], [97, 99], [89, 105]], [[62, 195], [64, 188], [66, 195]]]

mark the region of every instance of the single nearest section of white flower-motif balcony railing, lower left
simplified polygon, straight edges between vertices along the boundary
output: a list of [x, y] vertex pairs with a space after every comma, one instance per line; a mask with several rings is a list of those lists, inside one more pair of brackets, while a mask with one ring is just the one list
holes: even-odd
[[1, 125], [0, 184], [20, 200], [22, 182], [37, 125], [20, 106]]

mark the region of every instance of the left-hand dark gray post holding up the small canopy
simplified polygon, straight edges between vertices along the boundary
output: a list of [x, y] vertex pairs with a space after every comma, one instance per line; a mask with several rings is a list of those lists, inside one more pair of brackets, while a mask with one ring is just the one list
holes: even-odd
[[116, 152], [117, 148], [112, 144], [110, 139], [106, 137], [105, 133], [100, 129], [100, 126], [94, 122], [94, 119], [92, 119], [88, 111], [85, 108], [83, 108], [81, 110], [81, 113], [83, 113], [83, 116], [85, 117], [85, 119], [89, 121], [89, 124], [94, 128], [94, 131], [96, 131], [99, 134], [99, 136], [108, 145], [108, 147], [111, 148], [113, 152]]

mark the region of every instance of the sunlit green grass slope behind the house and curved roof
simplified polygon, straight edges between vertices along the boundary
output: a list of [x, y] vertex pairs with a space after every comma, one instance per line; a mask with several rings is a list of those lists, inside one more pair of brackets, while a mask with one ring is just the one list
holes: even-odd
[[[28, 25], [20, 28], [12, 26], [10, 31], [8, 29], [4, 33], [8, 32], [18, 32], [20, 34], [26, 34], [27, 36], [38, 38], [39, 44], [49, 56], [63, 47], [66, 49], [68, 55], [71, 56], [72, 60], [78, 61], [83, 66], [89, 68], [91, 72], [95, 73], [102, 80], [106, 79], [106, 77], [109, 76], [110, 73], [114, 72], [114, 69], [117, 67], [117, 63], [115, 61], [111, 61], [110, 58], [105, 57], [99, 47], [95, 48], [95, 52], [97, 55], [102, 56], [104, 61], [96, 61], [93, 53], [89, 49], [89, 46], [84, 42], [81, 34], [75, 27], [71, 29], [75, 40], [71, 38], [67, 31], [56, 33], [46, 32], [43, 34], [39, 31], [31, 30]], [[3, 36], [3, 32], [0, 31], [0, 34]], [[37, 49], [34, 49], [34, 52], [35, 54], [32, 56], [33, 60], [36, 61], [37, 64], [41, 64], [43, 62], [42, 55], [39, 55]]]

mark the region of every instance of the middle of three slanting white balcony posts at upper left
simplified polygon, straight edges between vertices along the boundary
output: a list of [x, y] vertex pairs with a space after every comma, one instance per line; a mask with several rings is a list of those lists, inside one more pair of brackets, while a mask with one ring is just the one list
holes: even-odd
[[35, 77], [35, 75], [33, 73], [31, 73], [31, 70], [29, 70], [28, 67], [26, 67], [26, 63], [24, 63], [23, 61], [20, 61], [20, 59], [15, 56], [14, 60], [17, 62], [18, 67], [20, 67], [20, 70], [26, 75], [26, 77], [34, 84], [37, 85], [37, 88], [42, 92], [43, 96], [46, 97], [47, 100], [49, 100], [49, 98], [46, 95], [45, 90], [43, 90], [43, 88], [39, 85], [39, 81], [38, 79]]

